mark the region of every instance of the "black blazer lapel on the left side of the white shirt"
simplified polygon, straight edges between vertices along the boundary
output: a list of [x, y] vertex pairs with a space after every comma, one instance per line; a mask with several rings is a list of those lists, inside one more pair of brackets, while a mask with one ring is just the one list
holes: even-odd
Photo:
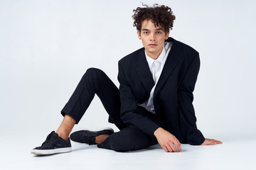
[[141, 50], [138, 56], [136, 72], [139, 76], [139, 79], [142, 81], [144, 88], [150, 94], [150, 91], [154, 86], [154, 79], [151, 75], [149, 64], [146, 62], [144, 50]]

